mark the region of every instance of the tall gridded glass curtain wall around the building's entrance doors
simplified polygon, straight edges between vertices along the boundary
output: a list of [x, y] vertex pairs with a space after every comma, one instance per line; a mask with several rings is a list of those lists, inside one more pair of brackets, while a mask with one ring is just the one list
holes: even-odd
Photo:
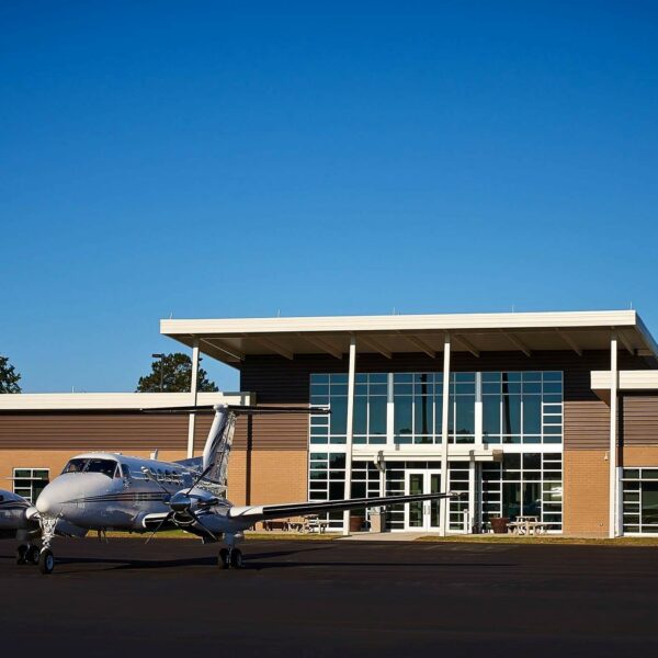
[[[474, 444], [481, 436], [483, 443], [500, 444], [504, 451], [502, 463], [481, 465], [481, 481], [476, 483], [480, 517], [475, 522], [486, 523], [494, 515], [510, 519], [534, 515], [548, 523], [549, 530], [560, 531], [563, 373], [451, 373], [449, 395], [449, 441]], [[442, 397], [442, 373], [358, 373], [354, 444], [440, 444]], [[310, 402], [331, 409], [329, 416], [310, 418], [311, 500], [336, 500], [344, 496], [347, 401], [347, 374], [310, 376]], [[481, 421], [476, 423], [480, 401]], [[404, 492], [406, 469], [440, 468], [438, 461], [422, 462], [424, 466], [419, 464], [415, 461], [387, 462], [387, 494]], [[468, 490], [467, 466], [467, 463], [451, 463], [451, 489]], [[647, 485], [647, 500], [653, 486]], [[365, 491], [370, 497], [378, 490], [379, 472], [374, 464], [355, 461], [352, 495], [361, 496]], [[629, 495], [633, 497], [631, 489]], [[628, 499], [629, 506], [633, 502]], [[450, 504], [450, 530], [457, 531], [463, 525], [468, 503], [451, 501]], [[342, 513], [334, 514], [330, 521], [332, 527], [340, 527]], [[388, 522], [389, 527], [401, 530], [404, 508], [389, 510]]]

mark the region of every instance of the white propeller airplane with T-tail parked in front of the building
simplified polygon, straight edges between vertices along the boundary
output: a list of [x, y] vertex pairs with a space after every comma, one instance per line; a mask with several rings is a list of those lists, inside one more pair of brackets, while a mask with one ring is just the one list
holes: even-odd
[[[387, 507], [423, 500], [451, 498], [451, 494], [419, 494], [353, 498], [319, 502], [235, 506], [226, 499], [228, 461], [236, 417], [254, 413], [328, 413], [325, 408], [193, 406], [143, 409], [148, 412], [190, 413], [214, 411], [203, 456], [178, 462], [124, 456], [121, 453], [76, 455], [41, 492], [36, 501], [42, 531], [38, 566], [50, 574], [55, 566], [52, 542], [58, 524], [67, 534], [97, 531], [150, 533], [182, 529], [204, 543], [224, 542], [218, 564], [242, 567], [242, 553], [236, 544], [258, 521]], [[157, 455], [155, 455], [157, 456]]]

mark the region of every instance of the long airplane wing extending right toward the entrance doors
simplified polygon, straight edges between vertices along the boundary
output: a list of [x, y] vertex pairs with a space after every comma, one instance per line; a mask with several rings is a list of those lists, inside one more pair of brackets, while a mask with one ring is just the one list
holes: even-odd
[[382, 498], [351, 498], [348, 500], [322, 500], [319, 502], [287, 502], [283, 504], [236, 506], [228, 510], [229, 519], [242, 519], [256, 523], [266, 519], [304, 517], [320, 512], [342, 512], [371, 507], [388, 507], [421, 500], [455, 498], [455, 494], [417, 494], [412, 496], [384, 496]]

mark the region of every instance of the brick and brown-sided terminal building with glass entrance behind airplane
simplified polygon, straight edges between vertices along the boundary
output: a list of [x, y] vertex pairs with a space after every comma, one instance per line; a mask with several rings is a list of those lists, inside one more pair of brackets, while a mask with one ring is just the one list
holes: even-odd
[[[393, 508], [390, 532], [485, 532], [535, 517], [551, 533], [658, 533], [658, 345], [634, 310], [168, 319], [161, 333], [236, 367], [225, 394], [0, 396], [0, 478], [34, 498], [71, 454], [198, 455], [193, 404], [328, 406], [240, 418], [237, 504], [462, 491]], [[193, 377], [195, 379], [195, 377]], [[7, 487], [7, 485], [4, 485]], [[343, 513], [328, 519], [347, 531]], [[366, 529], [367, 515], [350, 525]]]

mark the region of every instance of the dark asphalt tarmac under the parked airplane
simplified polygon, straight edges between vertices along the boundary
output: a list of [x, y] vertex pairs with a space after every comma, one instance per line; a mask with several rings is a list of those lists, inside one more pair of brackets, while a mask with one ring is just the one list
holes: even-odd
[[658, 656], [658, 549], [59, 540], [50, 576], [0, 542], [0, 646], [93, 656]]

